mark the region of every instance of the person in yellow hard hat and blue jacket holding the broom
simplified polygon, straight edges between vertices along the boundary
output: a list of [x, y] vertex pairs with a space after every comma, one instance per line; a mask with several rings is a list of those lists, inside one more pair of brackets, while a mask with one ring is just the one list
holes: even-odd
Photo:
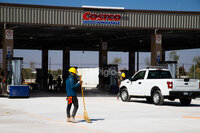
[[[82, 81], [77, 80], [77, 70], [74, 67], [71, 67], [69, 69], [69, 77], [66, 80], [66, 92], [67, 92], [67, 122], [73, 122], [76, 123], [75, 120], [76, 112], [78, 110], [78, 98], [76, 96], [76, 88], [79, 87], [82, 84]], [[72, 116], [70, 115], [70, 110], [72, 104], [74, 105], [74, 110], [72, 112]]]

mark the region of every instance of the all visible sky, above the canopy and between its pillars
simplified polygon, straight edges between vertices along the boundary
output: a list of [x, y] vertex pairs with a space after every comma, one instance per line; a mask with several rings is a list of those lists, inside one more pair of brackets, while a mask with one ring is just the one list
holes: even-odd
[[[19, 3], [19, 4], [34, 4], [34, 5], [50, 5], [50, 6], [69, 6], [81, 7], [82, 5], [90, 6], [113, 6], [125, 7], [125, 9], [142, 9], [142, 10], [170, 10], [170, 11], [200, 11], [200, 0], [0, 0], [4, 3]], [[31, 54], [30, 54], [31, 53]], [[167, 54], [169, 52], [166, 52]], [[195, 56], [200, 56], [200, 49], [179, 50], [179, 64], [184, 64], [188, 70], [192, 65], [192, 59]], [[166, 54], [166, 60], [168, 55]], [[15, 50], [16, 57], [24, 57], [24, 66], [27, 67], [30, 61], [41, 67], [41, 51], [22, 51]], [[31, 56], [30, 56], [31, 55]], [[32, 58], [34, 56], [34, 58]], [[122, 58], [120, 67], [128, 68], [128, 53], [109, 52], [108, 63], [111, 63], [115, 57]], [[145, 58], [150, 58], [150, 53], [140, 53], [140, 68], [145, 66]], [[61, 68], [62, 52], [49, 51], [49, 68]], [[81, 67], [98, 66], [98, 52], [79, 52], [71, 51], [71, 65]]]

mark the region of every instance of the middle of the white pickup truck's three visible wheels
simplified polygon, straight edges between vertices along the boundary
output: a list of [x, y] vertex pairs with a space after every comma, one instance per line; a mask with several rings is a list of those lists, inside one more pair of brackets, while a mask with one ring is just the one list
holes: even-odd
[[154, 91], [152, 98], [155, 105], [162, 105], [164, 103], [164, 97], [159, 90]]

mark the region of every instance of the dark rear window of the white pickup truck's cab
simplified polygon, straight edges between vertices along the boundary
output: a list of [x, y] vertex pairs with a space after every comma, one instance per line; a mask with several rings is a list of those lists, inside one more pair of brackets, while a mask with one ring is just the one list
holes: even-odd
[[147, 79], [171, 79], [172, 76], [169, 71], [164, 70], [150, 70]]

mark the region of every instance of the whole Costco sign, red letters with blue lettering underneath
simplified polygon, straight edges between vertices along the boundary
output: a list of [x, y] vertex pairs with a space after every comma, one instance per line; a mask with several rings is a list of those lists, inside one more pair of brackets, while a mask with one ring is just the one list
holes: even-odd
[[83, 24], [115, 24], [119, 25], [121, 15], [119, 14], [96, 14], [86, 12], [83, 14]]

